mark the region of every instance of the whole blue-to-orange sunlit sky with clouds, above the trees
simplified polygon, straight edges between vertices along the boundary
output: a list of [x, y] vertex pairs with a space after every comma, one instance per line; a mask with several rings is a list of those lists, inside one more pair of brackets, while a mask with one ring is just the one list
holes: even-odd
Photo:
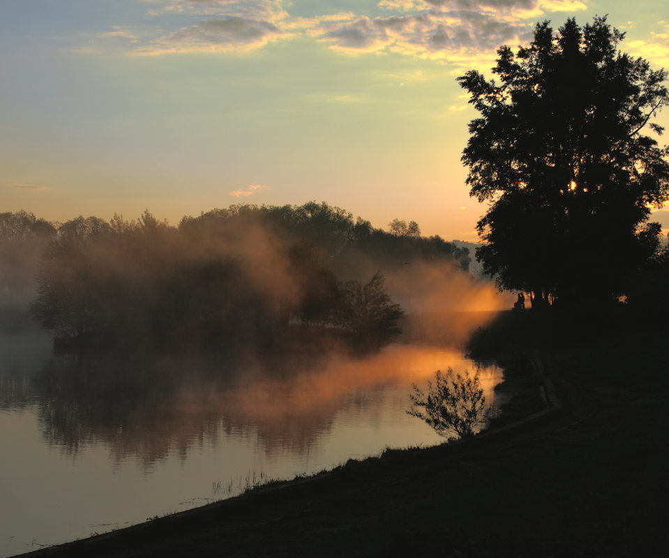
[[176, 225], [315, 200], [475, 241], [456, 77], [606, 14], [669, 68], [664, 0], [0, 0], [0, 211]]

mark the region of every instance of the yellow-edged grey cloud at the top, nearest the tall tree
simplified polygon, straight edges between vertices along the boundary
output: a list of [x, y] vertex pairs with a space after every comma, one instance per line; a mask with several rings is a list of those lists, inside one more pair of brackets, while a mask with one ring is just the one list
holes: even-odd
[[584, 0], [380, 0], [377, 5], [394, 14], [320, 22], [307, 33], [345, 54], [392, 52], [455, 68], [488, 68], [499, 45], [532, 38], [536, 18], [587, 8]]

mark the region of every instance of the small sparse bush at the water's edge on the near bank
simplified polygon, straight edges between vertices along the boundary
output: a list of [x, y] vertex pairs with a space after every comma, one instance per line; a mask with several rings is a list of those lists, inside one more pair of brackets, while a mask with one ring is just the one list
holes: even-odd
[[486, 418], [486, 398], [478, 371], [474, 376], [467, 370], [460, 375], [449, 366], [446, 374], [435, 372], [435, 384], [428, 382], [428, 393], [413, 385], [414, 393], [409, 394], [413, 408], [407, 414], [422, 418], [449, 442], [473, 436], [476, 425]]

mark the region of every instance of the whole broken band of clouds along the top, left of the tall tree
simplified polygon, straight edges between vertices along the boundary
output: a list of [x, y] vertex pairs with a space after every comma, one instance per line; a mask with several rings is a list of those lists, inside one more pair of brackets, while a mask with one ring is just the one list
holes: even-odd
[[[250, 52], [278, 40], [310, 37], [343, 54], [398, 53], [471, 67], [502, 44], [524, 43], [537, 17], [587, 8], [586, 0], [379, 0], [387, 17], [363, 11], [294, 16], [289, 0], [138, 0], [151, 15], [188, 16], [188, 25], [136, 54]], [[376, 12], [377, 13], [377, 12]], [[193, 17], [206, 19], [193, 23]], [[174, 17], [172, 17], [172, 21]], [[107, 37], [134, 40], [114, 28]]]

